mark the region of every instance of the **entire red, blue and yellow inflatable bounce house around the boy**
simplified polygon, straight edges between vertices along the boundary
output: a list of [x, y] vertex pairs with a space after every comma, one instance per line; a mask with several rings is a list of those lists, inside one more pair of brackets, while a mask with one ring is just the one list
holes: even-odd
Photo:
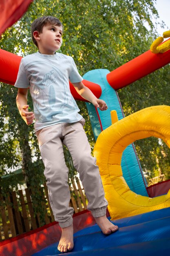
[[[24, 3], [22, 0], [16, 2]], [[0, 31], [5, 28], [1, 24]], [[163, 38], [167, 37], [170, 37], [170, 31], [163, 34]], [[170, 39], [162, 42], [162, 38], [158, 38], [150, 50], [112, 72], [99, 69], [83, 76], [83, 83], [108, 104], [108, 110], [102, 112], [86, 102], [96, 139], [94, 155], [108, 200], [108, 218], [119, 226], [119, 230], [106, 236], [95, 225], [89, 211], [75, 214], [75, 247], [66, 254], [170, 254], [170, 180], [148, 187], [133, 145], [138, 139], [153, 136], [161, 138], [170, 147], [170, 106], [153, 106], [124, 117], [117, 94], [120, 88], [170, 63]], [[15, 83], [20, 60], [20, 56], [0, 49], [0, 81]], [[70, 89], [75, 99], [84, 100], [71, 84]], [[58, 224], [50, 223], [1, 242], [0, 255], [59, 255], [59, 238]]]

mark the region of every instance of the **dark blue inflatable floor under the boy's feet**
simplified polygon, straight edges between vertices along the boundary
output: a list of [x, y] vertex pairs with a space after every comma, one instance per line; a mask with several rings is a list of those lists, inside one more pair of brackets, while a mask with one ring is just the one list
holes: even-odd
[[[152, 211], [129, 218], [115, 220], [119, 230], [109, 236], [97, 225], [74, 234], [75, 246], [70, 256], [155, 256], [170, 255], [170, 208]], [[33, 256], [56, 256], [58, 243], [33, 254]]]

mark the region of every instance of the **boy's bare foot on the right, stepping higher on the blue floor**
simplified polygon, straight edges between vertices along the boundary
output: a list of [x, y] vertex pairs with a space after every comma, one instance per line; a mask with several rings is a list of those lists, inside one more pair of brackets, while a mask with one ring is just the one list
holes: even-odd
[[103, 234], [110, 235], [111, 233], [117, 231], [118, 227], [113, 225], [112, 222], [108, 220], [105, 216], [95, 218], [97, 225], [102, 229]]

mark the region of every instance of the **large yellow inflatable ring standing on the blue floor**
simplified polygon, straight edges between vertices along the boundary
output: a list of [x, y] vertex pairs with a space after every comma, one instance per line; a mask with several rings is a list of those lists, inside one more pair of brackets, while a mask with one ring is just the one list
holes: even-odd
[[170, 147], [170, 106], [154, 106], [115, 122], [97, 138], [94, 156], [102, 177], [111, 219], [170, 207], [167, 195], [148, 198], [132, 192], [121, 170], [124, 149], [137, 139], [157, 137]]

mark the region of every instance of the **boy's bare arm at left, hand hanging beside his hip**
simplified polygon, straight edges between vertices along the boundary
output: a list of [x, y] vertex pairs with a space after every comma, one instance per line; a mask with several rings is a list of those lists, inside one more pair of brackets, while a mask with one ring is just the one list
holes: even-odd
[[28, 88], [18, 88], [16, 103], [21, 117], [24, 119], [27, 125], [30, 125], [33, 123], [35, 117], [33, 112], [28, 111], [29, 105], [27, 105], [27, 95]]

